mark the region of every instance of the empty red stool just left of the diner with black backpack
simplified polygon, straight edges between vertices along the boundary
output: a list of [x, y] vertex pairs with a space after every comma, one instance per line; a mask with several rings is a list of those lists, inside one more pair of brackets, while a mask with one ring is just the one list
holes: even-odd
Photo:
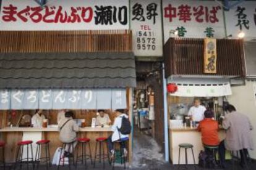
[[[109, 162], [109, 154], [105, 154], [104, 151], [104, 144], [106, 145], [107, 148], [107, 153], [108, 153], [108, 144], [107, 144], [107, 140], [108, 138], [106, 137], [99, 137], [96, 139], [96, 147], [95, 147], [95, 156], [94, 156], [94, 163], [93, 163], [93, 167], [95, 168], [95, 162], [96, 160], [99, 160], [101, 163], [101, 160], [103, 160], [103, 168], [105, 168], [105, 159], [108, 158], [108, 162]], [[100, 145], [100, 149], [98, 150], [98, 154], [97, 154], [97, 147], [98, 144]], [[101, 149], [102, 148], [102, 149]], [[103, 154], [101, 154], [103, 153]], [[110, 162], [109, 162], [110, 163]]]

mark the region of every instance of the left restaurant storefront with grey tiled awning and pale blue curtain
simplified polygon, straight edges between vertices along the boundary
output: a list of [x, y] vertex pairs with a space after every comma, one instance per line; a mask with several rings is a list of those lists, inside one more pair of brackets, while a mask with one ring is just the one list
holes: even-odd
[[[20, 37], [16, 43], [9, 42], [13, 43], [12, 49], [8, 49], [9, 43], [1, 47], [0, 132], [1, 140], [6, 142], [7, 163], [15, 161], [17, 142], [22, 140], [33, 140], [33, 152], [36, 152], [36, 141], [50, 140], [49, 152], [53, 158], [56, 149], [61, 147], [57, 122], [59, 110], [74, 111], [75, 121], [80, 124], [78, 137], [91, 140], [92, 155], [96, 138], [112, 134], [111, 126], [95, 127], [93, 119], [97, 110], [105, 110], [113, 124], [115, 110], [125, 109], [132, 122], [132, 89], [136, 86], [136, 76], [130, 32], [115, 32], [118, 34], [106, 31], [90, 31], [88, 34], [79, 31], [45, 31], [44, 34], [28, 31], [25, 33], [27, 36]], [[1, 31], [0, 34], [7, 34], [5, 37], [10, 38], [15, 33]], [[72, 38], [74, 33], [80, 37]], [[38, 43], [33, 43], [29, 37], [38, 38]], [[86, 41], [87, 37], [93, 38], [90, 47], [74, 46]], [[44, 38], [49, 39], [52, 46], [40, 46]], [[67, 44], [59, 43], [63, 38]], [[8, 42], [4, 38], [1, 41]], [[15, 48], [15, 44], [19, 44], [19, 48]], [[33, 116], [36, 109], [44, 110], [48, 126], [22, 126], [24, 115]], [[81, 126], [83, 121], [84, 127]], [[128, 143], [131, 163], [132, 134]]]

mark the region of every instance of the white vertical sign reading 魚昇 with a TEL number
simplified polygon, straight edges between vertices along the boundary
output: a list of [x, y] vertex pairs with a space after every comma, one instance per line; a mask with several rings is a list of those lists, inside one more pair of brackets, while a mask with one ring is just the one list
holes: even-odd
[[137, 56], [162, 56], [161, 1], [130, 1], [133, 51]]

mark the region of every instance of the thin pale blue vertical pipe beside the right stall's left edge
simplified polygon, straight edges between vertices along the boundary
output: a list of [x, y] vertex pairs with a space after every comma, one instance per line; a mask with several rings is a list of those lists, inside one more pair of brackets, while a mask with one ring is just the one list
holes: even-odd
[[168, 110], [167, 110], [167, 90], [166, 90], [166, 78], [164, 73], [164, 63], [162, 63], [163, 69], [163, 107], [164, 107], [164, 158], [166, 162], [169, 162], [169, 134], [168, 134]]

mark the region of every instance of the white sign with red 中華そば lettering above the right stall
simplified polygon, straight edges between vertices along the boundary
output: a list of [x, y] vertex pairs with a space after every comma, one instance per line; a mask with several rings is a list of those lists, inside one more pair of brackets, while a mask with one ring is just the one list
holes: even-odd
[[185, 38], [223, 38], [223, 9], [215, 1], [163, 0], [164, 42], [175, 31]]

